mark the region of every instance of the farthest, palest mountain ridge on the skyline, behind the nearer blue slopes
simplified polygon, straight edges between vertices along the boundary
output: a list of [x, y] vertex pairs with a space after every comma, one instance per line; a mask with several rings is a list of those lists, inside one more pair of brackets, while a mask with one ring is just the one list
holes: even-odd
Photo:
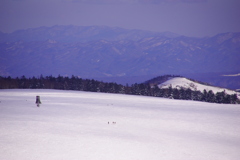
[[61, 43], [89, 42], [97, 40], [119, 41], [133, 40], [137, 41], [149, 36], [177, 37], [179, 35], [171, 32], [151, 32], [143, 30], [129, 30], [119, 27], [107, 26], [60, 26], [30, 28], [17, 30], [12, 33], [0, 33], [0, 42], [16, 41], [46, 41], [55, 40]]

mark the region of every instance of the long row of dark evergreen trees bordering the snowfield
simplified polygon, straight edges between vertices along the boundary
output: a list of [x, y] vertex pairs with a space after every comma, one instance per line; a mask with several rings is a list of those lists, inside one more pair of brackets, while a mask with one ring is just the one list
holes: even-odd
[[176, 89], [169, 87], [160, 89], [157, 85], [150, 86], [148, 83], [121, 85], [117, 83], [106, 83], [93, 79], [82, 79], [76, 76], [53, 77], [40, 76], [38, 78], [20, 78], [0, 77], [0, 89], [60, 89], [60, 90], [78, 90], [104, 93], [120, 93], [131, 95], [144, 95], [154, 97], [165, 97], [171, 99], [195, 100], [212, 103], [239, 104], [240, 100], [236, 94], [228, 95], [224, 91], [216, 94], [213, 91], [192, 91], [191, 89]]

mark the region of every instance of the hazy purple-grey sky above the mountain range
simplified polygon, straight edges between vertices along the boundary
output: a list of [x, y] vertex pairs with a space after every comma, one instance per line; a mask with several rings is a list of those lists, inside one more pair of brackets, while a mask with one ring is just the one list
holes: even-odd
[[240, 32], [240, 0], [0, 0], [0, 31], [104, 25], [186, 36]]

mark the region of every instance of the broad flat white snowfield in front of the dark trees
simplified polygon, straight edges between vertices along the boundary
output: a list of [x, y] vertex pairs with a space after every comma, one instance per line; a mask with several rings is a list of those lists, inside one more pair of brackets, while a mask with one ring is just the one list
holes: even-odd
[[0, 90], [0, 159], [239, 160], [239, 115], [231, 104]]

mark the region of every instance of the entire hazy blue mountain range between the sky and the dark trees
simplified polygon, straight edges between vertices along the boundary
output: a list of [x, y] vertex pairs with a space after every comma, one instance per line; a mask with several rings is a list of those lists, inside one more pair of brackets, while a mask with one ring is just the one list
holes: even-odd
[[[139, 80], [177, 74], [218, 85], [222, 75], [240, 73], [240, 33], [195, 38], [105, 26], [39, 27], [1, 32], [0, 54], [1, 76]], [[239, 76], [227, 78], [222, 87], [240, 88]]]

